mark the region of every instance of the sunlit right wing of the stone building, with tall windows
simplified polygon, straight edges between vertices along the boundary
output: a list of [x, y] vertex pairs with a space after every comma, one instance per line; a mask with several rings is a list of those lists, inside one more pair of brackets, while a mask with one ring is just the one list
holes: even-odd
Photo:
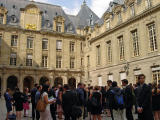
[[89, 28], [85, 47], [85, 80], [104, 86], [107, 80], [128, 79], [139, 74], [146, 82], [160, 80], [160, 1], [113, 0], [101, 18]]

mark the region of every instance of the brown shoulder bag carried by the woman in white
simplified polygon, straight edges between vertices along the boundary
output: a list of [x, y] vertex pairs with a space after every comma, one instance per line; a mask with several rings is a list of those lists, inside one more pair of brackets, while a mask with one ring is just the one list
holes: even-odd
[[46, 103], [42, 100], [42, 97], [37, 102], [36, 110], [38, 112], [44, 112], [46, 110]]

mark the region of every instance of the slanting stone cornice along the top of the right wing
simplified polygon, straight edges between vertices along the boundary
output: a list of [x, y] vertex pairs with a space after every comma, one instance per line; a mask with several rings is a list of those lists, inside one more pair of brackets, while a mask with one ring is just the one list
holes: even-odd
[[114, 31], [116, 31], [116, 30], [120, 29], [120, 28], [122, 28], [122, 27], [124, 27], [124, 26], [126, 26], [128, 24], [131, 24], [132, 22], [134, 22], [136, 20], [139, 20], [142, 17], [145, 17], [145, 16], [149, 15], [150, 13], [152, 13], [154, 11], [157, 11], [157, 10], [160, 10], [160, 4], [154, 6], [154, 7], [150, 8], [150, 9], [145, 10], [142, 14], [136, 15], [135, 17], [128, 19], [127, 21], [115, 26], [114, 28], [111, 28], [111, 29], [105, 31], [104, 33], [100, 34], [99, 36], [90, 39], [89, 42], [93, 43], [94, 41], [96, 41], [96, 40], [98, 40], [98, 39], [100, 39], [100, 38], [102, 38], [102, 37], [114, 32]]

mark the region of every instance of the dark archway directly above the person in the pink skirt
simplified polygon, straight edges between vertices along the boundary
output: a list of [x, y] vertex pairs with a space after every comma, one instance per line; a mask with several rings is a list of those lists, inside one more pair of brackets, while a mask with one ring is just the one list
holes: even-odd
[[27, 76], [24, 78], [23, 81], [23, 91], [25, 88], [28, 88], [29, 91], [31, 91], [31, 89], [34, 87], [34, 80], [31, 76]]

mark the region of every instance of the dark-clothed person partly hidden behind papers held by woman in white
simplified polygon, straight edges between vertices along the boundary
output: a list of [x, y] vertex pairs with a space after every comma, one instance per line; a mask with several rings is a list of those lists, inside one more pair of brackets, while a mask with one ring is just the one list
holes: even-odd
[[[51, 98], [56, 98], [55, 87], [52, 87], [49, 90], [48, 96]], [[50, 105], [50, 112], [51, 112], [52, 119], [56, 120], [56, 104], [55, 103]]]

